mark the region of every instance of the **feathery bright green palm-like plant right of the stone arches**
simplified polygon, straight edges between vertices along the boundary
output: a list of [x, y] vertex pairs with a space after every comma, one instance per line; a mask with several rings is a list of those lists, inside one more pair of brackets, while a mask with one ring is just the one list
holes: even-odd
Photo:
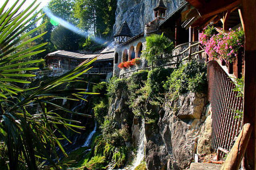
[[164, 57], [165, 54], [172, 55], [174, 49], [173, 42], [167, 37], [158, 34], [152, 34], [146, 37], [147, 46], [145, 51], [142, 51], [142, 56], [148, 60], [149, 63], [156, 63], [158, 59]]

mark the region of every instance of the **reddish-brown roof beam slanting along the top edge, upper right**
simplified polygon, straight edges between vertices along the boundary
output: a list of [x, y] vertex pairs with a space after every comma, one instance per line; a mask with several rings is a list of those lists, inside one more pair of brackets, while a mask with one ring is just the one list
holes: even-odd
[[208, 18], [221, 12], [231, 10], [241, 4], [241, 0], [218, 0], [210, 1], [205, 4], [202, 8], [198, 9], [200, 16]]

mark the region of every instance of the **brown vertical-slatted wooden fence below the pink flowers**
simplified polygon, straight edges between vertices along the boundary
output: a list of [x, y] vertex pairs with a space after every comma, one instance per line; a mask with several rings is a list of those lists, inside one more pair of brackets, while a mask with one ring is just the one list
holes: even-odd
[[[217, 61], [207, 63], [208, 100], [212, 107], [212, 149], [230, 150], [230, 145], [242, 128], [242, 118], [236, 118], [236, 110], [242, 110], [243, 98], [237, 97], [235, 84]], [[222, 154], [223, 156], [223, 154]]]

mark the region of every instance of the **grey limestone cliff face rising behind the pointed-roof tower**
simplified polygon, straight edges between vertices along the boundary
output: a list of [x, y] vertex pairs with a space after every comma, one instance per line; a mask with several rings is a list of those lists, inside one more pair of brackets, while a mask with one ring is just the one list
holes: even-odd
[[[114, 34], [120, 29], [124, 20], [127, 21], [133, 35], [144, 31], [146, 23], [154, 20], [153, 9], [158, 0], [118, 0]], [[167, 7], [167, 16], [171, 14], [184, 0], [163, 0]]]

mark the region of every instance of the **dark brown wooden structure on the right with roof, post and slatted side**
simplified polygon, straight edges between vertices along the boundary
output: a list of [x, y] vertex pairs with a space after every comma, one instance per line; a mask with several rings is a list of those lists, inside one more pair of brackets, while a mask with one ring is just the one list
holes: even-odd
[[[244, 168], [256, 169], [256, 1], [255, 0], [186, 0], [189, 5], [182, 12], [184, 27], [190, 29], [192, 36], [202, 31], [206, 25], [214, 25], [217, 31], [241, 26], [245, 34], [244, 58], [238, 56], [232, 63], [207, 61], [209, 89], [208, 98], [213, 110], [213, 143], [225, 146], [234, 137], [234, 129], [239, 121], [234, 120], [234, 112], [227, 114], [226, 107], [243, 109], [242, 123], [250, 123], [252, 134], [244, 155]], [[241, 100], [230, 90], [230, 76], [244, 76], [244, 98]], [[225, 83], [226, 82], [226, 83]], [[223, 100], [222, 100], [223, 99]], [[238, 105], [240, 106], [238, 106]], [[238, 123], [238, 124], [237, 124]], [[223, 128], [222, 128], [223, 127]], [[225, 129], [226, 128], [226, 129]], [[215, 149], [216, 149], [215, 147]]]

